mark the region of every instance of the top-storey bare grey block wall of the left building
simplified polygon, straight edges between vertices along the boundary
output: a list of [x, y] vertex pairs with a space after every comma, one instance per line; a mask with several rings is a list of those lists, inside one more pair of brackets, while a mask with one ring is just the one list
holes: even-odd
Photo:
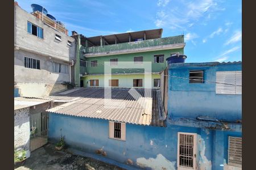
[[[41, 19], [19, 6], [14, 6], [14, 15], [14, 45], [63, 61], [71, 61], [72, 58], [75, 58], [75, 39], [44, 24]], [[43, 39], [27, 32], [27, 22], [43, 28]], [[60, 35], [62, 41], [55, 40], [55, 34]], [[67, 44], [68, 40], [72, 42], [72, 46]]]

